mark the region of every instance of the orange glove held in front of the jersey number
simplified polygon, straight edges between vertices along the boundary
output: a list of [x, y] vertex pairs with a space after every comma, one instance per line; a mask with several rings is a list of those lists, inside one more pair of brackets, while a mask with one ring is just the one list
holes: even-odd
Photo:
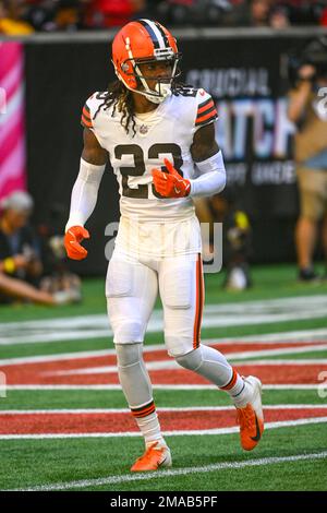
[[157, 192], [165, 198], [187, 196], [191, 191], [191, 182], [174, 169], [173, 165], [165, 158], [165, 166], [168, 172], [153, 169], [154, 186]]

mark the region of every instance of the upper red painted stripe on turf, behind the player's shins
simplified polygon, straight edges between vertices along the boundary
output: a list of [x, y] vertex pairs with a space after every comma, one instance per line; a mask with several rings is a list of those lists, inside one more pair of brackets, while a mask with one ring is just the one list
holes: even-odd
[[[322, 360], [317, 362], [310, 360], [305, 362], [301, 359], [292, 360], [278, 360], [274, 359], [267, 361], [267, 351], [269, 356], [278, 357], [284, 354], [295, 353], [296, 349], [314, 350], [317, 347], [322, 349], [326, 346], [326, 342], [315, 343], [277, 343], [277, 344], [239, 344], [233, 345], [214, 345], [222, 351], [228, 358], [232, 356], [240, 356], [251, 358], [259, 357], [263, 360], [256, 361], [240, 361], [234, 363], [233, 367], [240, 374], [258, 375], [263, 383], [269, 384], [318, 384], [318, 374], [322, 371], [327, 371], [327, 362]], [[254, 355], [255, 353], [255, 355]], [[318, 355], [318, 354], [317, 354]], [[181, 369], [173, 358], [169, 358], [166, 350], [150, 350], [144, 355], [147, 362], [153, 384], [208, 384], [202, 377]], [[305, 365], [304, 365], [305, 363]], [[28, 362], [26, 360], [22, 363], [2, 366], [0, 368], [5, 373], [7, 383], [9, 385], [15, 384], [119, 384], [116, 357], [114, 356], [89, 356], [84, 358], [66, 356], [53, 356], [52, 361]]]

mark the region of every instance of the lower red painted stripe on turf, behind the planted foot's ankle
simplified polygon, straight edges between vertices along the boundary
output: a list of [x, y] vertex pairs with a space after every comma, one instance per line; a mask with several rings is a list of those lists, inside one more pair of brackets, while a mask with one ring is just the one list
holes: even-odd
[[[160, 411], [162, 431], [203, 431], [237, 426], [234, 408], [221, 408], [218, 411], [207, 409], [181, 408], [178, 411]], [[287, 422], [300, 419], [327, 420], [327, 408], [265, 408], [266, 422]], [[47, 434], [47, 433], [138, 433], [138, 429], [129, 413], [90, 413], [90, 414], [1, 414], [0, 434]]]

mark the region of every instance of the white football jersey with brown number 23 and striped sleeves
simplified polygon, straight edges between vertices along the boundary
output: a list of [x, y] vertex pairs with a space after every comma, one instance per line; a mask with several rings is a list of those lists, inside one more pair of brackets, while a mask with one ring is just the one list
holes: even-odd
[[138, 220], [178, 220], [194, 215], [191, 198], [161, 198], [153, 186], [152, 169], [165, 170], [164, 158], [185, 178], [195, 177], [191, 145], [196, 130], [217, 119], [211, 96], [204, 90], [183, 87], [152, 112], [135, 115], [129, 133], [121, 126], [122, 112], [105, 108], [105, 94], [87, 99], [82, 124], [90, 129], [107, 150], [120, 193], [123, 217]]

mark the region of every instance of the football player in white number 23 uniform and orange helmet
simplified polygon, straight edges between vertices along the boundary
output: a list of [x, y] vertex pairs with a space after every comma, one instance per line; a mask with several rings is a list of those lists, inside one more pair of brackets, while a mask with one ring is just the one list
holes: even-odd
[[143, 361], [158, 290], [169, 355], [230, 395], [243, 449], [254, 449], [264, 430], [261, 381], [243, 379], [221, 353], [201, 344], [204, 282], [193, 198], [221, 191], [226, 170], [215, 139], [214, 100], [204, 90], [178, 83], [180, 57], [175, 39], [156, 21], [133, 21], [117, 34], [118, 80], [83, 108], [84, 150], [65, 228], [68, 255], [84, 259], [81, 242], [89, 237], [84, 224], [109, 155], [121, 218], [106, 279], [108, 314], [120, 383], [145, 440], [132, 472], [171, 465]]

